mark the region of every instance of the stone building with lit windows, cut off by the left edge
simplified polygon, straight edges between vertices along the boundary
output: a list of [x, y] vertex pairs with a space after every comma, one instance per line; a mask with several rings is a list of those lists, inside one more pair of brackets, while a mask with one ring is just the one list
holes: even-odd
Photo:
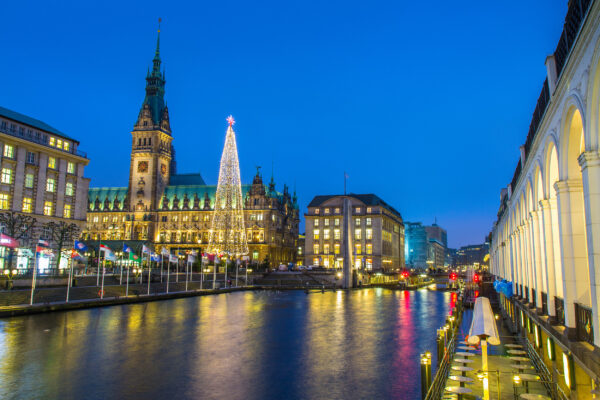
[[[37, 220], [32, 231], [19, 238], [22, 248], [33, 248], [40, 238], [51, 241], [44, 228], [48, 222], [85, 227], [90, 180], [83, 175], [89, 160], [78, 147], [79, 141], [45, 122], [0, 107], [0, 212], [28, 214]], [[0, 268], [5, 251], [0, 247]], [[18, 250], [18, 269], [31, 266], [26, 254]], [[40, 263], [42, 271], [53, 268], [49, 258]]]

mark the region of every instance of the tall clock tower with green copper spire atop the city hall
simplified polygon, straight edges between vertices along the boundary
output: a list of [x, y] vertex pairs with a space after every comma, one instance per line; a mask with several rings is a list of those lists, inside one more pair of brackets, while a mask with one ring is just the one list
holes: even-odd
[[[169, 110], [165, 104], [165, 72], [160, 70], [160, 29], [152, 71], [146, 75], [146, 97], [131, 132], [129, 169], [130, 212], [149, 213], [159, 208], [169, 184], [172, 141]], [[137, 218], [136, 218], [137, 219]]]

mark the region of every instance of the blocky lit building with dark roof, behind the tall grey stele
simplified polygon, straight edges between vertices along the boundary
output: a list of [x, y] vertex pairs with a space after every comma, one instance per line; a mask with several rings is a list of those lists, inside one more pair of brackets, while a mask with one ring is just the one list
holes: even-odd
[[343, 201], [349, 198], [352, 223], [349, 243], [355, 268], [397, 272], [404, 268], [404, 223], [393, 207], [374, 194], [316, 196], [308, 205], [304, 262], [342, 268]]

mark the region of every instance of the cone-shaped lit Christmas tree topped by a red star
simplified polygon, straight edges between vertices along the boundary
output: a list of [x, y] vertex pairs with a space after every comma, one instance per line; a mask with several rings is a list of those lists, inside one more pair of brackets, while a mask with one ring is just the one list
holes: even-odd
[[248, 254], [248, 241], [244, 228], [244, 201], [233, 117], [227, 118], [229, 127], [221, 156], [219, 183], [213, 212], [208, 252], [239, 257]]

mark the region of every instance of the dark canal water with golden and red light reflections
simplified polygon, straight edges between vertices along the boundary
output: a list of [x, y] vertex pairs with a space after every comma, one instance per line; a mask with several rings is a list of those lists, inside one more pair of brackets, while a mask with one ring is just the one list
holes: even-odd
[[0, 320], [1, 399], [419, 399], [450, 293], [237, 292]]

